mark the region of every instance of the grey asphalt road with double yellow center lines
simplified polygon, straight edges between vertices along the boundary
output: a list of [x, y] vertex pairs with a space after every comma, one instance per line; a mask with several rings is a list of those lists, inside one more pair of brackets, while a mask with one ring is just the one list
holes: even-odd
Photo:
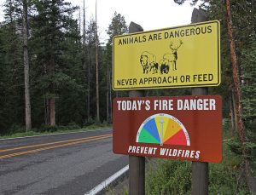
[[0, 140], [0, 194], [84, 194], [127, 164], [112, 130]]

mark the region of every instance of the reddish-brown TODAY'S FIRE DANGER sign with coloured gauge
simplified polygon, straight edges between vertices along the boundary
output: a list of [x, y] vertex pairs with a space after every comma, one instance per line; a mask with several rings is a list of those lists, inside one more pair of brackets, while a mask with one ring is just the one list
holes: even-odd
[[219, 95], [116, 98], [113, 152], [220, 163], [221, 101]]

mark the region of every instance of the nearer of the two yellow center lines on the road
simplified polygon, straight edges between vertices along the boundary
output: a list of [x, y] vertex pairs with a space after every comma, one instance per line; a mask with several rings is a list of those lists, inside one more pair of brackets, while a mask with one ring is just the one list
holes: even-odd
[[61, 145], [56, 145], [56, 146], [48, 146], [48, 147], [42, 147], [42, 148], [38, 148], [38, 149], [34, 149], [34, 150], [30, 150], [30, 151], [24, 151], [24, 152], [15, 152], [15, 153], [11, 153], [11, 154], [6, 154], [6, 155], [2, 155], [0, 156], [0, 159], [3, 158], [11, 158], [11, 157], [15, 157], [15, 156], [20, 156], [23, 154], [27, 154], [27, 153], [35, 153], [35, 152], [40, 152], [40, 151], [45, 151], [45, 150], [49, 150], [49, 149], [53, 149], [53, 148], [57, 148], [57, 147], [63, 147], [63, 146], [71, 146], [74, 144], [80, 144], [80, 143], [85, 143], [85, 142], [89, 142], [89, 141], [96, 141], [96, 140], [102, 140], [102, 139], [106, 139], [106, 138], [110, 138], [113, 135], [102, 135], [101, 137], [90, 137], [90, 139], [84, 140], [84, 141], [74, 141], [71, 143], [66, 143], [66, 144], [61, 144]]

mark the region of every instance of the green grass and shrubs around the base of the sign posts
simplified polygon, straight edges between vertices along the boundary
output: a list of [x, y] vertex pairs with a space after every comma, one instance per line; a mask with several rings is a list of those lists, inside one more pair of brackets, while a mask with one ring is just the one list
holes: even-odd
[[[235, 132], [230, 131], [229, 123], [224, 125], [223, 132], [223, 161], [209, 163], [209, 194], [250, 194]], [[191, 162], [161, 158], [151, 158], [147, 162], [146, 194], [191, 194]], [[118, 192], [109, 187], [107, 194], [129, 194], [128, 183], [124, 182], [123, 189]]]

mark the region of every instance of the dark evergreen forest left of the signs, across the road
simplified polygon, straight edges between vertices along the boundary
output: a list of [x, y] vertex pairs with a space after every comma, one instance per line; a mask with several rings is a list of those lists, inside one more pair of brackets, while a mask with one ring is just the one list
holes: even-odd
[[74, 19], [79, 8], [71, 3], [8, 0], [3, 6], [0, 134], [22, 127], [111, 123], [116, 96], [110, 86], [111, 41], [127, 33], [125, 18], [113, 13], [103, 44], [96, 19]]

